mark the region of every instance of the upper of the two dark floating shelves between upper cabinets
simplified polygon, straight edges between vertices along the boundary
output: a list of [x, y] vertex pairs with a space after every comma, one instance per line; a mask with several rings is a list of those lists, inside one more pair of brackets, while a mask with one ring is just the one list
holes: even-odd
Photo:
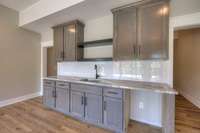
[[104, 40], [96, 40], [96, 41], [89, 41], [89, 42], [84, 42], [80, 44], [78, 47], [79, 48], [84, 48], [84, 47], [98, 47], [98, 46], [106, 46], [106, 45], [112, 45], [113, 39], [104, 39]]

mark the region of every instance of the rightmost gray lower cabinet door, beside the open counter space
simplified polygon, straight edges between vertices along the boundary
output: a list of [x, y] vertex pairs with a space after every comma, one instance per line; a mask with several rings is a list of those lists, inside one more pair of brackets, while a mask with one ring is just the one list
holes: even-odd
[[104, 124], [115, 130], [123, 130], [122, 100], [104, 97]]

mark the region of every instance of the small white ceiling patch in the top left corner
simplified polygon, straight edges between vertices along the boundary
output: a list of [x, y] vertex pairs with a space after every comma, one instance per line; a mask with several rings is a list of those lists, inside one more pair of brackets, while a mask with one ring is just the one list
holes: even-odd
[[22, 11], [40, 0], [0, 0], [0, 4], [16, 11]]

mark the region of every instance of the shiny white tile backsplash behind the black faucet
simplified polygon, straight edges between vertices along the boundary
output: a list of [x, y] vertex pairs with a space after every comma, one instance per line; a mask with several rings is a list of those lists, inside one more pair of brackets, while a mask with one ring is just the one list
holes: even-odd
[[58, 75], [94, 77], [94, 65], [103, 78], [168, 82], [168, 61], [62, 62]]

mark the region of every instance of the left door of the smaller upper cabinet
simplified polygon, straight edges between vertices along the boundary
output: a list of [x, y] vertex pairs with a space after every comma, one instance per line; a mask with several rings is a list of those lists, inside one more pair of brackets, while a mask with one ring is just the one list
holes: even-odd
[[63, 27], [54, 28], [54, 50], [57, 61], [63, 61], [64, 58], [64, 30]]

